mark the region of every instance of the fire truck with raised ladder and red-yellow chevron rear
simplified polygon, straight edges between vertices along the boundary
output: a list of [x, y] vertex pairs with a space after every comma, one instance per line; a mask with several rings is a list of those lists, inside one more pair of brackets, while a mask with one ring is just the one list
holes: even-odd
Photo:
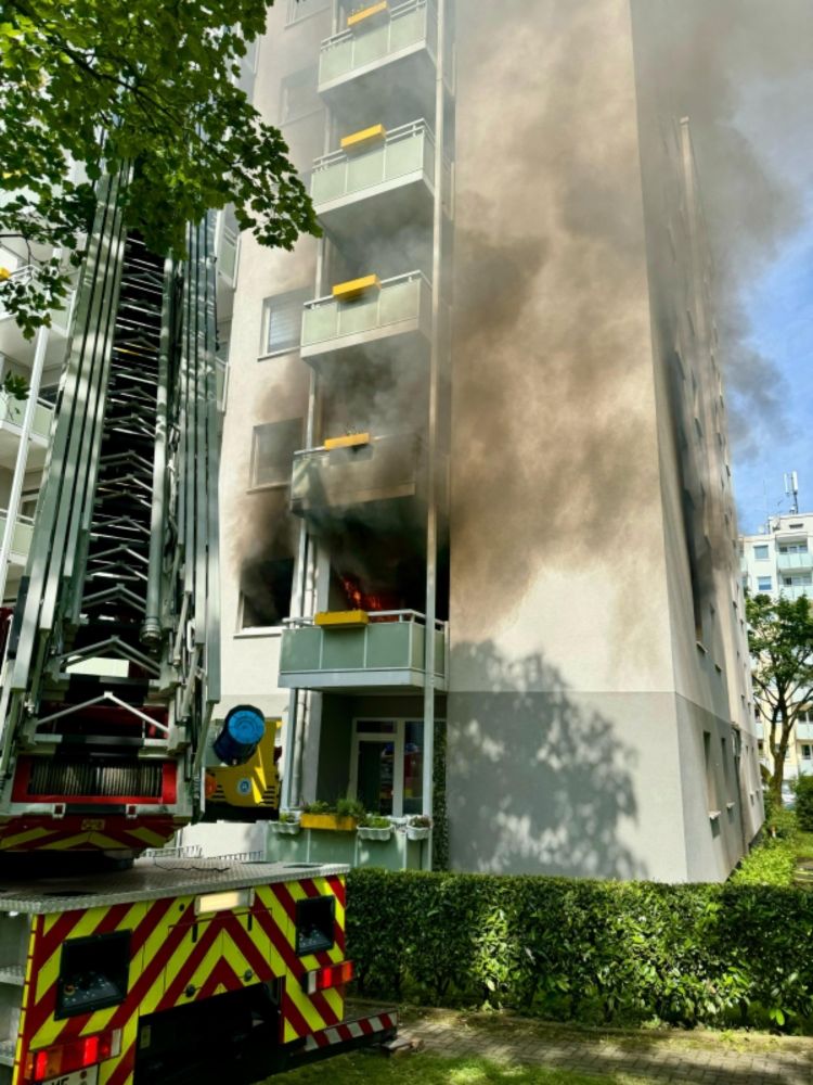
[[126, 184], [101, 184], [3, 615], [0, 1085], [250, 1085], [397, 1029], [345, 1016], [345, 867], [160, 851], [206, 817], [205, 781], [228, 802], [263, 750], [275, 779], [275, 727], [250, 705], [212, 722], [212, 222], [183, 263], [156, 256]]

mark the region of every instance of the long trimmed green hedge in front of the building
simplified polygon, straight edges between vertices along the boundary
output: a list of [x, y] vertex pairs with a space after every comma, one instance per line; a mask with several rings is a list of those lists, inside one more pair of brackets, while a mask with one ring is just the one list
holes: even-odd
[[813, 893], [358, 869], [347, 917], [367, 996], [813, 1031]]

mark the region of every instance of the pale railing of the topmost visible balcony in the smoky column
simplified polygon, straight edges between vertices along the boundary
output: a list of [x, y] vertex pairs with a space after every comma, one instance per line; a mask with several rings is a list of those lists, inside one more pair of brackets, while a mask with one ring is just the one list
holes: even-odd
[[438, 27], [434, 4], [406, 0], [389, 10], [384, 22], [364, 23], [334, 34], [322, 42], [319, 56], [319, 89], [361, 74], [421, 47], [436, 53]]

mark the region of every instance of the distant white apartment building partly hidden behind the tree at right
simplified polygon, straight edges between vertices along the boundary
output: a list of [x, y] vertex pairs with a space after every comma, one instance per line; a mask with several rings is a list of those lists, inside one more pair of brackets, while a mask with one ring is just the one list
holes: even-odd
[[[774, 516], [765, 527], [764, 533], [739, 539], [743, 589], [772, 599], [813, 597], [813, 513]], [[813, 773], [813, 706], [802, 709], [785, 760], [786, 780]], [[771, 769], [769, 743], [759, 718], [757, 736], [760, 760]]]

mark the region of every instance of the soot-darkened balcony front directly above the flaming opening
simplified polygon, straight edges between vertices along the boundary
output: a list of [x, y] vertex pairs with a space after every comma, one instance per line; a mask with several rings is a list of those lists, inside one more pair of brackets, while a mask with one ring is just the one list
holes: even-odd
[[291, 511], [323, 519], [371, 501], [418, 496], [425, 464], [414, 433], [369, 437], [363, 444], [309, 448], [294, 456]]

